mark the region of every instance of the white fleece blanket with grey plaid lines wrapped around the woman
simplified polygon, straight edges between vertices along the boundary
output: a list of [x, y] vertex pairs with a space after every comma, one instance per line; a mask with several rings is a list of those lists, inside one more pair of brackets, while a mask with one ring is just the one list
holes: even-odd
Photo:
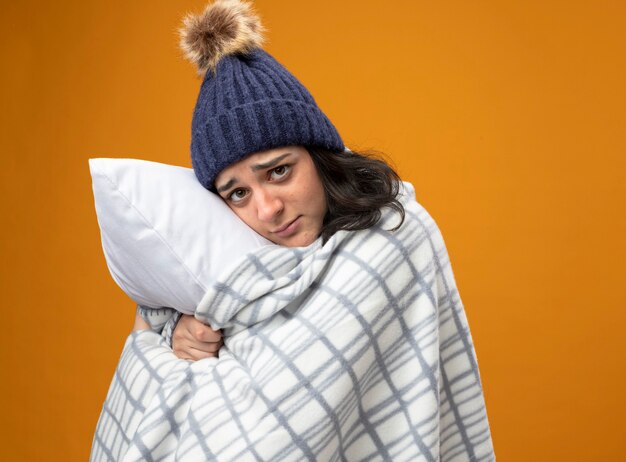
[[437, 225], [406, 219], [325, 245], [269, 246], [204, 296], [219, 359], [126, 341], [91, 460], [494, 460], [478, 366]]

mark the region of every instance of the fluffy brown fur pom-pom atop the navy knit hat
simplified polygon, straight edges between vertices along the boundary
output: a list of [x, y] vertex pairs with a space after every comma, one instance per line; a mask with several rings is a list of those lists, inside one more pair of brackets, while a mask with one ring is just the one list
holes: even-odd
[[246, 54], [263, 43], [264, 28], [252, 6], [240, 0], [217, 0], [201, 14], [187, 14], [180, 28], [180, 47], [203, 76], [215, 72], [226, 55]]

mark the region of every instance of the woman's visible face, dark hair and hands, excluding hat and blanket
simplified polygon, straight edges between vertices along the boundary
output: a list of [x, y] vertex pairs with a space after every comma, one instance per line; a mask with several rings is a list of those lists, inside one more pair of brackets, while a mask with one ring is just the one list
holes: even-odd
[[[273, 148], [226, 167], [214, 189], [261, 236], [278, 245], [305, 247], [340, 229], [375, 225], [383, 207], [404, 220], [397, 173], [371, 155], [315, 146]], [[138, 314], [134, 330], [148, 328]], [[172, 349], [182, 359], [217, 356], [222, 345], [220, 331], [190, 315], [181, 315], [172, 335]]]

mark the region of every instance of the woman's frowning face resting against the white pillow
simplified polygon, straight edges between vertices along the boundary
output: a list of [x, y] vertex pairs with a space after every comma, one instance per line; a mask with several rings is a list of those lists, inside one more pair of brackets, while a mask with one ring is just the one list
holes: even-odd
[[239, 218], [275, 244], [304, 247], [322, 231], [326, 195], [301, 146], [251, 154], [222, 170], [215, 188]]

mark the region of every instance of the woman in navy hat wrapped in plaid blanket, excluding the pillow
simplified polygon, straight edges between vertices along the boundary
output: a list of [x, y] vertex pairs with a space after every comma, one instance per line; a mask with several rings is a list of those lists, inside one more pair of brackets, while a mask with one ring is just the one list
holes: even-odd
[[196, 176], [278, 245], [164, 338], [129, 337], [92, 460], [494, 460], [436, 224], [385, 162], [345, 148], [261, 31], [222, 0], [186, 18], [182, 45], [204, 76]]

